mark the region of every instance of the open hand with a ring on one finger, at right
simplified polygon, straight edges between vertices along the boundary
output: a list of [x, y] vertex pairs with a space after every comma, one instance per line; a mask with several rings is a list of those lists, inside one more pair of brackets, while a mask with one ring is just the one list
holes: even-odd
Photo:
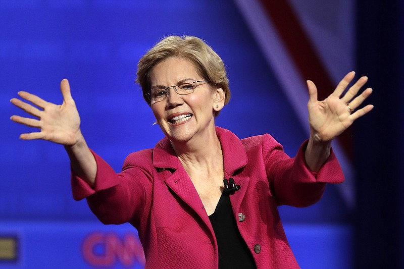
[[372, 93], [372, 89], [367, 88], [358, 95], [361, 87], [368, 81], [367, 77], [361, 77], [341, 97], [354, 76], [354, 71], [349, 72], [339, 82], [334, 92], [323, 101], [317, 100], [316, 85], [310, 80], [307, 81], [310, 95], [308, 102], [310, 133], [316, 141], [331, 141], [345, 131], [356, 119], [373, 109], [373, 105], [368, 104], [355, 111]]

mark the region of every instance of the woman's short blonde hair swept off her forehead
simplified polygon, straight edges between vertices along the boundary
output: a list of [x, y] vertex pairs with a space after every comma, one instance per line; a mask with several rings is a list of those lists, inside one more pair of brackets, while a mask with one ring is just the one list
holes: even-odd
[[[229, 80], [222, 59], [202, 39], [195, 36], [167, 36], [150, 48], [137, 64], [136, 82], [143, 91], [143, 98], [150, 105], [146, 94], [150, 90], [150, 72], [160, 62], [170, 57], [190, 60], [204, 80], [222, 88], [225, 104], [230, 100]], [[215, 117], [219, 112], [215, 113]]]

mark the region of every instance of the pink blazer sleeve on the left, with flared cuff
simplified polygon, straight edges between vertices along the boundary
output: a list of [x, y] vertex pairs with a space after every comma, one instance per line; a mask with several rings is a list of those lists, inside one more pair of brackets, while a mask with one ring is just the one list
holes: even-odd
[[147, 152], [130, 154], [120, 173], [92, 150], [91, 153], [97, 164], [94, 188], [72, 171], [73, 198], [86, 198], [91, 211], [104, 224], [138, 221], [150, 196], [153, 177], [147, 169], [136, 165], [136, 159], [142, 159]]

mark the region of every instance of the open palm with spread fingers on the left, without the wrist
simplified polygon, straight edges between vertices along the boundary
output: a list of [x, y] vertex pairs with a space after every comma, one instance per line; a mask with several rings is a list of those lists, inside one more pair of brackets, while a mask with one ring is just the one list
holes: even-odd
[[10, 100], [23, 111], [37, 118], [31, 119], [16, 115], [11, 117], [11, 120], [16, 123], [40, 129], [39, 132], [21, 134], [21, 139], [43, 139], [66, 146], [73, 146], [83, 139], [80, 132], [80, 117], [70, 93], [69, 81], [62, 80], [60, 88], [63, 95], [63, 103], [60, 105], [47, 102], [25, 91], [18, 92], [18, 95], [40, 109], [17, 98]]

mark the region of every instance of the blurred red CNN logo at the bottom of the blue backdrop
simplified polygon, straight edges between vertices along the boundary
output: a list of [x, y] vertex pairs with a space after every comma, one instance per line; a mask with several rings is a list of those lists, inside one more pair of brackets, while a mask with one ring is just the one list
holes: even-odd
[[92, 266], [114, 266], [117, 261], [125, 267], [145, 263], [143, 248], [133, 233], [126, 233], [122, 240], [117, 233], [90, 233], [84, 238], [81, 251]]

